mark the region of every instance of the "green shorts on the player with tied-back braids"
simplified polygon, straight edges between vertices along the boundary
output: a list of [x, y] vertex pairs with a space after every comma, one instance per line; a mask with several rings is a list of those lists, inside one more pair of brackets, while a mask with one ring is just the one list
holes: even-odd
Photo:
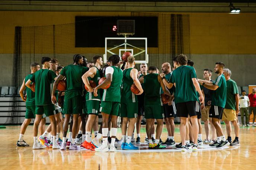
[[64, 99], [64, 114], [81, 114], [83, 109], [82, 96]]

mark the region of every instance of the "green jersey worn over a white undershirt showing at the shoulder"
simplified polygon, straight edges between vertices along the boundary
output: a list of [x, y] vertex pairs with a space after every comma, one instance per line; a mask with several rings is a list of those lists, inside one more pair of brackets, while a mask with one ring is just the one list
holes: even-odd
[[109, 66], [106, 68], [105, 76], [109, 73], [112, 74], [112, 82], [108, 89], [104, 89], [102, 101], [120, 102], [123, 71], [117, 66]]

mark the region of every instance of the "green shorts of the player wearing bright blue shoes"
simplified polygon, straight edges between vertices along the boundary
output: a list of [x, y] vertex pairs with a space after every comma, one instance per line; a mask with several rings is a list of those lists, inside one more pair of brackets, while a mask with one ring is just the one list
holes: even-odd
[[135, 103], [121, 103], [121, 117], [137, 118], [138, 116], [138, 102]]

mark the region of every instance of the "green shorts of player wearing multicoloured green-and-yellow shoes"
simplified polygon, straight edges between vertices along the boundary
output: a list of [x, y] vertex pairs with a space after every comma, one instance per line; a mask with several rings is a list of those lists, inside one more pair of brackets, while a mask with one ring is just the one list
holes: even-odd
[[161, 105], [145, 105], [144, 106], [146, 119], [163, 119], [164, 109]]

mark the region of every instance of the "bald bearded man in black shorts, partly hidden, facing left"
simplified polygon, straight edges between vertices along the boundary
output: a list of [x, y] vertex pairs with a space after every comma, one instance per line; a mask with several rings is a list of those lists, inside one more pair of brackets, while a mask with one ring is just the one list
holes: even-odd
[[[170, 63], [163, 63], [161, 70], [163, 71], [163, 74], [166, 78], [166, 80], [169, 82], [171, 75], [172, 75], [172, 69]], [[173, 88], [169, 89], [170, 94], [173, 94]], [[161, 94], [163, 94], [163, 89], [161, 88]], [[162, 145], [167, 146], [175, 146], [174, 141], [174, 111], [173, 111], [173, 105], [172, 105], [172, 99], [170, 98], [170, 101], [167, 104], [163, 105], [164, 107], [164, 121], [167, 128], [168, 137], [167, 140], [162, 143]]]

